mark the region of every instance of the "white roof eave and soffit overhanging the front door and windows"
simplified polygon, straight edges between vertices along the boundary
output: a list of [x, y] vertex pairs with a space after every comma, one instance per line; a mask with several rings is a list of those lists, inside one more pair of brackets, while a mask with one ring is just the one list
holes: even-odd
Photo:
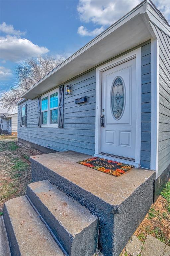
[[[121, 52], [121, 46], [119, 44], [116, 45], [115, 37], [116, 37], [116, 35], [122, 37], [124, 28], [127, 26], [127, 24], [130, 24], [130, 21], [131, 22], [138, 21], [138, 23], [141, 22], [140, 19], [143, 21], [143, 25], [147, 28], [147, 31], [144, 31], [141, 28], [140, 33], [143, 33], [143, 35], [144, 35], [143, 38], [141, 38], [141, 40], [146, 41], [150, 38], [154, 38], [155, 34], [150, 25], [150, 21], [156, 22], [153, 14], [157, 15], [157, 20], [159, 22], [159, 25], [162, 27], [162, 29], [166, 30], [167, 33], [170, 33], [169, 32], [170, 27], [165, 22], [165, 20], [162, 19], [162, 16], [161, 16], [160, 12], [157, 10], [157, 8], [153, 5], [153, 3], [151, 1], [145, 0], [141, 4], [136, 6], [128, 14], [126, 14], [124, 17], [122, 17], [119, 21], [117, 21], [112, 26], [110, 26], [107, 30], [105, 30], [103, 33], [101, 33], [99, 36], [97, 36], [96, 38], [91, 40], [88, 44], [86, 44], [84, 47], [82, 47], [80, 50], [78, 50], [76, 53], [74, 53], [72, 56], [70, 56], [67, 60], [65, 60], [63, 63], [61, 63], [58, 67], [56, 67], [54, 70], [52, 70], [50, 73], [48, 73], [39, 82], [37, 82], [35, 85], [33, 85], [27, 92], [25, 92], [22, 95], [22, 98], [34, 99], [34, 98], [38, 97], [39, 95], [42, 95], [43, 93], [51, 90], [52, 88], [55, 88], [62, 83], [65, 83], [66, 81], [72, 79], [73, 77], [80, 75], [83, 72], [88, 71], [89, 69], [99, 65], [100, 63], [102, 63], [104, 61], [109, 60], [111, 57], [117, 56], [116, 51], [114, 51], [116, 47], [120, 48], [120, 52], [117, 54], [120, 54], [120, 53], [128, 50], [128, 48], [126, 48], [124, 46], [124, 47], [122, 47], [122, 52]], [[139, 18], [139, 17], [141, 17], [141, 18]], [[135, 20], [135, 18], [136, 18], [136, 20]], [[136, 24], [136, 27], [135, 27], [136, 31], [138, 30], [139, 25]], [[127, 26], [126, 29], [129, 30], [128, 32], [131, 32], [130, 26]], [[122, 34], [120, 34], [120, 31], [122, 31]], [[132, 32], [131, 32], [131, 34], [132, 34]], [[114, 37], [114, 35], [115, 35], [115, 37]], [[139, 42], [136, 39], [136, 45], [134, 45], [133, 42], [128, 42], [128, 38], [126, 38], [126, 36], [127, 35], [126, 35], [126, 30], [125, 30], [124, 40], [127, 41], [127, 45], [129, 43], [129, 49], [144, 42], [144, 41]], [[150, 36], [150, 38], [149, 38], [149, 36]], [[128, 35], [128, 37], [129, 37], [129, 35]], [[106, 45], [108, 46], [109, 40], [107, 40], [107, 38], [112, 38], [112, 40], [113, 40], [112, 41], [113, 42], [112, 50], [113, 51], [110, 51], [110, 52], [113, 52], [113, 55], [115, 54], [114, 56], [111, 56], [110, 58], [109, 58], [110, 55], [108, 55], [108, 59], [107, 59], [107, 54], [108, 54], [107, 48], [108, 47], [106, 47]], [[104, 44], [104, 42], [106, 42], [106, 43]], [[97, 52], [96, 49], [98, 49], [98, 48], [99, 48], [99, 51]], [[105, 53], [104, 52], [103, 56], [102, 56], [102, 51], [106, 51], [106, 54], [104, 55], [104, 53]], [[99, 55], [101, 55], [101, 59], [99, 59]], [[89, 63], [91, 64], [91, 66], [90, 65], [88, 66]], [[73, 67], [74, 67], [74, 69], [73, 69]], [[69, 72], [67, 72], [67, 70], [69, 70]], [[69, 73], [70, 73], [70, 76], [69, 76]], [[25, 99], [20, 101], [17, 105], [24, 102]]]

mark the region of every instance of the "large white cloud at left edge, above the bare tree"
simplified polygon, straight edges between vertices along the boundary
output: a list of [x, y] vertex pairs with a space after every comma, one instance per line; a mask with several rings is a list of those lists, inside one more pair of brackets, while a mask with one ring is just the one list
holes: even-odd
[[10, 61], [21, 61], [26, 58], [37, 57], [49, 50], [33, 44], [26, 38], [7, 35], [0, 37], [1, 58]]

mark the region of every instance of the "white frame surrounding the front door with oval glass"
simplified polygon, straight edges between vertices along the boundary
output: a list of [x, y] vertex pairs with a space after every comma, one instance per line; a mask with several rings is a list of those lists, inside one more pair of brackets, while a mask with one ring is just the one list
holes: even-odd
[[[101, 95], [102, 95], [102, 72], [113, 68], [123, 62], [136, 58], [136, 149], [135, 149], [135, 162], [110, 157], [101, 153]], [[141, 145], [141, 47], [131, 51], [115, 60], [112, 60], [98, 68], [96, 68], [96, 129], [95, 129], [95, 154], [94, 156], [104, 157], [122, 163], [132, 164], [135, 167], [140, 166], [140, 145]]]

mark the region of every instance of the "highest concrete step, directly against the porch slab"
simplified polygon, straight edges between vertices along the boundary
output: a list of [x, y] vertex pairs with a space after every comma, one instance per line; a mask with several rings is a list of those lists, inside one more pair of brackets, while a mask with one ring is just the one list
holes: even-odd
[[96, 216], [47, 180], [29, 184], [27, 196], [68, 255], [94, 255], [98, 238]]

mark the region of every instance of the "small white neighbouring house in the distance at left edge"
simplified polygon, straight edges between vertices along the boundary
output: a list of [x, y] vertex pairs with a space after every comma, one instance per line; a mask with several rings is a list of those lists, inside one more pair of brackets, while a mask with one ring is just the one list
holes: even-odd
[[17, 135], [18, 114], [0, 113], [0, 132], [7, 135]]

